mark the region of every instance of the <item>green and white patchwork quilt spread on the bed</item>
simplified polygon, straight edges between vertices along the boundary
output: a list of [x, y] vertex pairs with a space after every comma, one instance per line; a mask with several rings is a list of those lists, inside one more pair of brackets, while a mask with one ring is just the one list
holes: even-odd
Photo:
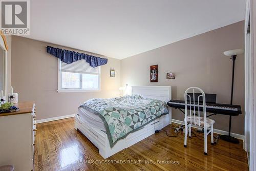
[[128, 134], [168, 114], [165, 102], [157, 99], [144, 99], [139, 95], [91, 99], [80, 105], [80, 108], [89, 110], [103, 120], [111, 147]]

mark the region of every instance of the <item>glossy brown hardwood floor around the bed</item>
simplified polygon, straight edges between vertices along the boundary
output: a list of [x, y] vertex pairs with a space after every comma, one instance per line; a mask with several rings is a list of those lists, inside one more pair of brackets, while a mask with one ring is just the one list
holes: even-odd
[[[175, 135], [170, 125], [164, 130]], [[198, 137], [188, 139], [185, 148], [183, 134], [167, 137], [161, 131], [103, 159], [93, 143], [74, 129], [73, 118], [41, 123], [37, 125], [34, 168], [46, 171], [248, 170], [242, 141], [231, 144], [219, 140], [213, 146], [208, 141], [208, 156], [205, 156], [204, 143], [200, 140], [203, 136], [196, 135]]]

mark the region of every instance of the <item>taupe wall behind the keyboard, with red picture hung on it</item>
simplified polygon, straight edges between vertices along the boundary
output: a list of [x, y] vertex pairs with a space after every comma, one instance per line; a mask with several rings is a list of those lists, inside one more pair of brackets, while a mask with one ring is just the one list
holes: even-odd
[[[223, 52], [244, 48], [244, 22], [206, 32], [173, 44], [121, 60], [121, 83], [131, 86], [172, 86], [173, 99], [184, 99], [188, 87], [196, 86], [205, 93], [217, 94], [218, 103], [230, 102], [231, 60]], [[150, 66], [158, 65], [158, 82], [150, 82]], [[176, 79], [167, 80], [166, 73]], [[244, 55], [236, 60], [234, 104], [244, 110]], [[184, 115], [172, 110], [173, 119]], [[214, 128], [228, 131], [229, 116], [212, 116]], [[232, 118], [233, 133], [244, 134], [244, 113]]]

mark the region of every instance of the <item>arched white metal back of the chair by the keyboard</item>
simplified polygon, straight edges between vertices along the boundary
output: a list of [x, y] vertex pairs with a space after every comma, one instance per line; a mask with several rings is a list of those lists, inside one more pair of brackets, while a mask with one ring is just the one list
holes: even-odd
[[[198, 87], [190, 87], [185, 91], [185, 124], [187, 124], [188, 116], [190, 117], [190, 123], [192, 125], [202, 126], [200, 123], [204, 122], [204, 127], [206, 129], [206, 104], [205, 104], [205, 94], [202, 89]], [[203, 112], [200, 113], [200, 109]], [[189, 113], [188, 113], [189, 110]], [[193, 113], [192, 113], [193, 112]], [[196, 116], [198, 115], [198, 117]], [[196, 120], [197, 119], [197, 120]]]

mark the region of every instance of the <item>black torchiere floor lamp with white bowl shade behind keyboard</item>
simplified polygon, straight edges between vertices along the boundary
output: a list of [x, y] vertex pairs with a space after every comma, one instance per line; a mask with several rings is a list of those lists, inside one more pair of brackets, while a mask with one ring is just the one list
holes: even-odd
[[[229, 50], [225, 51], [224, 55], [229, 56], [230, 59], [233, 62], [233, 67], [232, 67], [232, 86], [231, 86], [231, 98], [230, 98], [230, 104], [233, 104], [233, 87], [234, 87], [234, 61], [236, 61], [237, 55], [243, 54], [244, 49], [234, 49], [234, 50]], [[231, 119], [232, 116], [229, 116], [229, 127], [228, 127], [228, 135], [221, 135], [220, 138], [222, 140], [232, 142], [232, 143], [239, 143], [239, 140], [237, 138], [231, 137], [230, 136], [230, 131], [231, 131]]]

